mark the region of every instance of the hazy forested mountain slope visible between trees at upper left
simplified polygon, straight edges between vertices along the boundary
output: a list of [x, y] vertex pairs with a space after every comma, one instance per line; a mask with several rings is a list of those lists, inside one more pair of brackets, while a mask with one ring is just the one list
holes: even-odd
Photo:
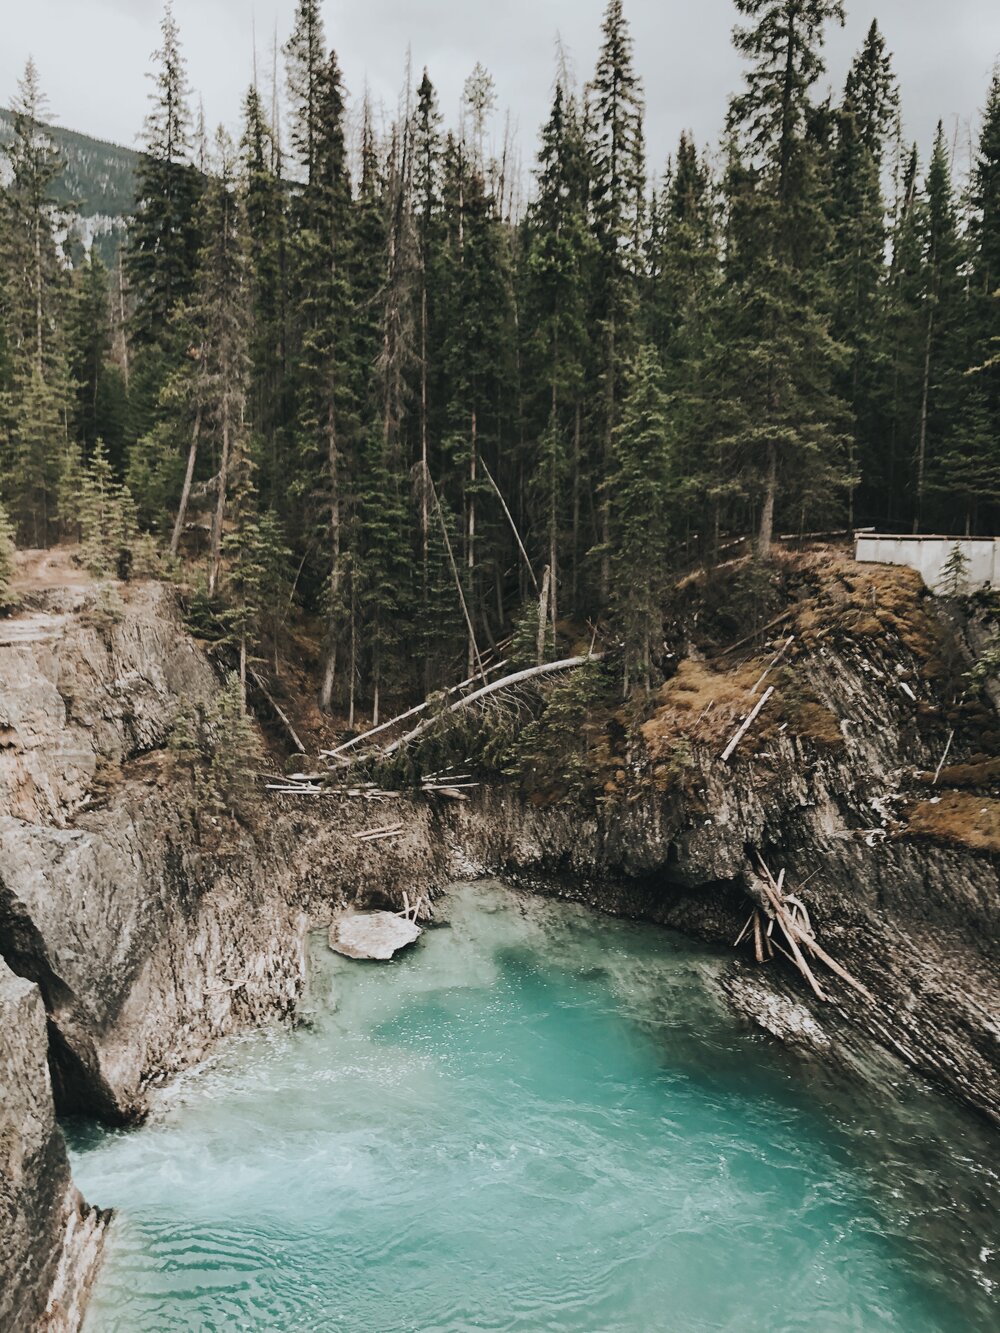
[[[113, 264], [132, 212], [140, 155], [133, 148], [105, 144], [59, 125], [49, 125], [48, 131], [65, 161], [56, 197], [76, 211], [71, 228], [73, 248], [93, 244], [101, 259]], [[12, 132], [13, 112], [0, 107], [0, 143], [9, 143]]]

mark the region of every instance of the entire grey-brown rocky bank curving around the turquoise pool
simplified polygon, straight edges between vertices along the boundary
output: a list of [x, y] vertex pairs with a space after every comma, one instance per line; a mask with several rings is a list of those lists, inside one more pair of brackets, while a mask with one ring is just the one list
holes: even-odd
[[[835, 585], [828, 613], [799, 607], [791, 674], [731, 764], [729, 714], [720, 705], [707, 728], [705, 682], [681, 672], [649, 710], [641, 772], [636, 758], [596, 805], [535, 804], [512, 785], [463, 804], [400, 796], [399, 834], [375, 842], [356, 834], [385, 809], [363, 801], [259, 792], [233, 820], [199, 797], [175, 721], [181, 705], [209, 710], [219, 680], [169, 588], [123, 588], [111, 609], [85, 584], [32, 589], [0, 621], [0, 1001], [13, 1016], [0, 1074], [15, 1090], [0, 1329], [47, 1306], [64, 1312], [51, 1326], [73, 1328], [100, 1249], [105, 1218], [72, 1189], [56, 1112], [135, 1120], [152, 1084], [221, 1037], [291, 1018], [304, 932], [344, 901], [397, 906], [404, 890], [499, 873], [731, 946], [761, 854], [875, 1004], [832, 977], [819, 1004], [784, 961], [752, 956], [727, 981], [733, 1002], [828, 1057], [877, 1041], [1000, 1118], [988, 758], [959, 785], [988, 718], [956, 709], [963, 645], [904, 573], [864, 623], [844, 611], [857, 589]], [[920, 774], [949, 733], [959, 764], [932, 793]], [[969, 797], [987, 813], [960, 817]]]

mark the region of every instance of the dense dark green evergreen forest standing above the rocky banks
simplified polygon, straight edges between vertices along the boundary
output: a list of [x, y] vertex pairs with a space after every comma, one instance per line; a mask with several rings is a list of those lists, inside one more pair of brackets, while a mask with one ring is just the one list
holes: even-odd
[[353, 725], [511, 639], [600, 636], [648, 689], [669, 589], [739, 543], [995, 535], [1000, 72], [971, 152], [947, 124], [912, 144], [877, 23], [829, 93], [843, 19], [735, 0], [723, 143], [648, 163], [609, 0], [521, 171], [483, 65], [455, 121], [409, 69], [385, 117], [320, 0], [239, 137], [211, 133], [168, 4], [104, 257], [69, 244], [29, 63], [1, 149], [0, 605], [15, 543], [183, 577], [244, 680], [309, 625], [319, 704]]

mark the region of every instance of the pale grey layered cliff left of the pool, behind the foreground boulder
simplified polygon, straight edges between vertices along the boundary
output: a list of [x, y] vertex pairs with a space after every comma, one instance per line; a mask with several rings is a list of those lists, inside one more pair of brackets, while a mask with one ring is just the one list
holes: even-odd
[[169, 780], [179, 705], [217, 678], [169, 589], [125, 596], [113, 623], [92, 592], [0, 623], [3, 953], [44, 997], [57, 1104], [109, 1120], [303, 978], [267, 830], [205, 840]]

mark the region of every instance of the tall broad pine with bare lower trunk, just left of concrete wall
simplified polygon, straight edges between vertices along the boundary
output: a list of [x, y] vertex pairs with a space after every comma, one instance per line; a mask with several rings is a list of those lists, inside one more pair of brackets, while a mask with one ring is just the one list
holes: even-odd
[[848, 480], [845, 408], [835, 393], [844, 351], [833, 340], [824, 291], [827, 231], [809, 91], [823, 73], [823, 29], [843, 21], [840, 0], [736, 0], [756, 20], [737, 28], [751, 61], [729, 108], [736, 137], [727, 183], [728, 291], [720, 384], [728, 396], [724, 443], [759, 507], [757, 551], [767, 556], [784, 507], [804, 523]]

